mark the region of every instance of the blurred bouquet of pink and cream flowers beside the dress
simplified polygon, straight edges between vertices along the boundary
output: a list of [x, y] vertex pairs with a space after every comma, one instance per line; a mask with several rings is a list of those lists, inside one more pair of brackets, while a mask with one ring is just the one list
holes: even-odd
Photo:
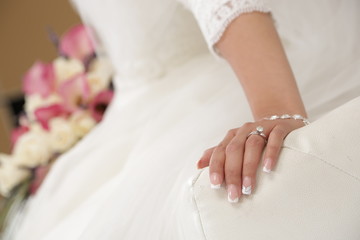
[[25, 74], [12, 153], [0, 154], [1, 227], [13, 205], [36, 193], [54, 161], [102, 120], [113, 97], [109, 61], [95, 54], [84, 25], [52, 39], [59, 56]]

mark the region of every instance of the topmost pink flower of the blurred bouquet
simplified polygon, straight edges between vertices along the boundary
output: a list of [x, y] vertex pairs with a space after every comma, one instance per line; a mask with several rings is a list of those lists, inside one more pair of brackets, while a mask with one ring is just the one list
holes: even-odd
[[94, 54], [94, 44], [88, 34], [88, 28], [77, 25], [66, 32], [60, 40], [60, 52], [68, 57], [85, 61]]

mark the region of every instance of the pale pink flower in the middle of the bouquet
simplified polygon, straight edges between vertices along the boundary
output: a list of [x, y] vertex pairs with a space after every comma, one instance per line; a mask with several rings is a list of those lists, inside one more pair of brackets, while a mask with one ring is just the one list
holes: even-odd
[[78, 74], [62, 83], [58, 89], [67, 110], [74, 112], [90, 101], [90, 86], [85, 74]]

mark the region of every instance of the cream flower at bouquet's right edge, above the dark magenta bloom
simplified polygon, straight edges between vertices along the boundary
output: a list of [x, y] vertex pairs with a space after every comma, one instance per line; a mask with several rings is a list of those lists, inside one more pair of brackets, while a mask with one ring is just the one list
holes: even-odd
[[110, 61], [107, 58], [100, 57], [93, 60], [87, 74], [93, 96], [108, 88], [112, 72]]

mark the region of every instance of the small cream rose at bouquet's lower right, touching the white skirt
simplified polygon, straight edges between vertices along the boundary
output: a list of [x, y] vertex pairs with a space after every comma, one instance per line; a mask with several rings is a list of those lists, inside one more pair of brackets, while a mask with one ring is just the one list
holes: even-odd
[[90, 116], [90, 113], [85, 111], [74, 113], [70, 117], [70, 122], [73, 131], [78, 138], [82, 138], [96, 126], [96, 121]]

